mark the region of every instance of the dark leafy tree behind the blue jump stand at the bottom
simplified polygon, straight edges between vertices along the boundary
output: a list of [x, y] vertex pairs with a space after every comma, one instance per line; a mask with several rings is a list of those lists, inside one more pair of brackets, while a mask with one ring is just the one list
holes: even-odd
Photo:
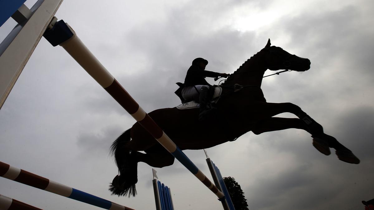
[[248, 210], [247, 200], [244, 198], [244, 192], [239, 183], [231, 176], [223, 177], [227, 191], [230, 194], [235, 210]]

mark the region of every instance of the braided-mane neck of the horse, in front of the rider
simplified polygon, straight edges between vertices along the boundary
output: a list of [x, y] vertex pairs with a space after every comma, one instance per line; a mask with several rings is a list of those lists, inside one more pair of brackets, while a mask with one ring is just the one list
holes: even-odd
[[264, 50], [248, 59], [242, 64], [225, 85], [240, 84], [242, 86], [261, 87], [262, 77], [266, 71], [264, 62]]

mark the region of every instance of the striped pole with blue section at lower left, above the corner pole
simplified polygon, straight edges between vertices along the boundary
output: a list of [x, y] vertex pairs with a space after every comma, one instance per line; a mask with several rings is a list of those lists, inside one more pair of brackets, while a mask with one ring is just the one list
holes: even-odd
[[[10, 166], [9, 164], [0, 161], [0, 176], [28, 185], [34, 188], [39, 188], [57, 195], [62, 195], [77, 201], [81, 201], [93, 206], [110, 210], [134, 210], [126, 206], [122, 206], [103, 198], [96, 197], [95, 195], [53, 182], [45, 177], [30, 173], [28, 171], [18, 169]], [[1, 200], [0, 200], [1, 201]], [[0, 206], [1, 207], [1, 206]]]

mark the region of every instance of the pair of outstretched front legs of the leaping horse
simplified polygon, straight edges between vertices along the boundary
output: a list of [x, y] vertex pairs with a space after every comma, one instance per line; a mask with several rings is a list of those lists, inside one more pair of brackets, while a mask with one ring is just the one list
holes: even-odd
[[[258, 111], [258, 115], [262, 114], [266, 117], [260, 120], [255, 129], [252, 130], [255, 134], [288, 128], [303, 129], [312, 135], [313, 146], [322, 154], [329, 155], [331, 154], [329, 148], [334, 148], [341, 161], [355, 164], [360, 162], [352, 151], [339, 143], [334, 137], [325, 134], [322, 126], [301, 110], [299, 106], [292, 103], [260, 102], [254, 108]], [[273, 117], [284, 112], [295, 114], [299, 119]]]

